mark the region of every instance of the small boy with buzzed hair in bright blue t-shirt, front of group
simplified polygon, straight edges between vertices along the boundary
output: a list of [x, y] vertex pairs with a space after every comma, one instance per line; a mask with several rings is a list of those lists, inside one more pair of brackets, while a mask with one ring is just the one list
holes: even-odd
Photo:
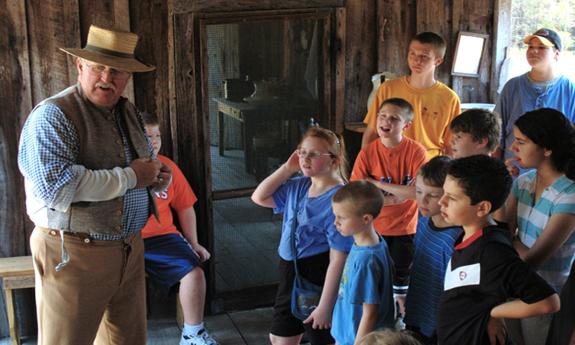
[[393, 326], [391, 258], [373, 228], [382, 206], [383, 194], [366, 181], [350, 182], [332, 199], [337, 230], [354, 240], [332, 317], [331, 335], [339, 345], [353, 345], [374, 329]]

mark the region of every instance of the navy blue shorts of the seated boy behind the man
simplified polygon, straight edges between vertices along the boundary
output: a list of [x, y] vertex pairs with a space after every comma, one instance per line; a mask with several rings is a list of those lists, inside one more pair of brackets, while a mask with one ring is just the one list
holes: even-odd
[[146, 273], [154, 283], [167, 290], [201, 264], [198, 255], [179, 234], [146, 238], [144, 248]]

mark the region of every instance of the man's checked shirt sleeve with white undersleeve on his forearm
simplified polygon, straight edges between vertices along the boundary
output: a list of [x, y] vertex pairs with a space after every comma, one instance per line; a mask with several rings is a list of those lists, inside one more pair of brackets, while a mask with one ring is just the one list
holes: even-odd
[[38, 201], [66, 212], [73, 202], [111, 200], [136, 186], [130, 167], [90, 170], [76, 164], [77, 143], [76, 128], [57, 106], [44, 104], [30, 114], [22, 129], [18, 165]]

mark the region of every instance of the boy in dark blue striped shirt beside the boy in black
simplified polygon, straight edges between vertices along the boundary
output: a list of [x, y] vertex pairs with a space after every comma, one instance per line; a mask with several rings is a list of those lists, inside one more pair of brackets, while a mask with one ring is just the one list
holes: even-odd
[[439, 206], [450, 161], [446, 156], [434, 157], [419, 169], [415, 182], [415, 198], [421, 217], [415, 233], [404, 322], [407, 329], [426, 345], [437, 344], [437, 303], [443, 292], [443, 278], [453, 244], [463, 231], [443, 219]]

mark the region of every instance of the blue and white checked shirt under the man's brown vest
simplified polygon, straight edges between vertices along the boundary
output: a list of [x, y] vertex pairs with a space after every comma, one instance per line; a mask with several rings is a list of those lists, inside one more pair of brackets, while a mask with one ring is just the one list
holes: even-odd
[[[122, 136], [126, 166], [134, 159], [119, 117], [116, 125]], [[53, 208], [59, 202], [71, 203], [79, 182], [73, 169], [77, 164], [78, 133], [73, 123], [55, 105], [46, 103], [29, 116], [20, 138], [18, 164], [30, 183], [34, 197]], [[151, 151], [151, 147], [150, 147]], [[58, 199], [58, 200], [56, 200]], [[97, 240], [119, 240], [143, 228], [150, 214], [146, 188], [129, 189], [124, 195], [122, 234], [91, 234]]]

